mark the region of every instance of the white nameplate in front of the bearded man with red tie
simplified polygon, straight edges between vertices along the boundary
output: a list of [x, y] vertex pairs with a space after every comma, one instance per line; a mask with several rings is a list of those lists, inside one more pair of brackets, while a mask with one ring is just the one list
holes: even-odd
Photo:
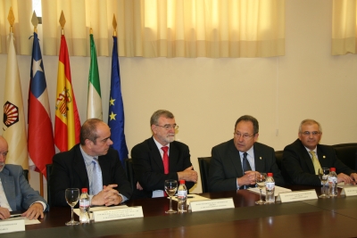
[[232, 198], [227, 199], [212, 199], [203, 201], [191, 201], [190, 207], [192, 212], [212, 210], [212, 209], [234, 209], [234, 202]]

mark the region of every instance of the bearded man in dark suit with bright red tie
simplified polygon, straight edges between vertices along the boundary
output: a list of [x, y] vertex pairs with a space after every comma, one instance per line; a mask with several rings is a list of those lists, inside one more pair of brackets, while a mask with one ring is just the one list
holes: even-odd
[[[170, 111], [155, 111], [150, 119], [153, 136], [131, 150], [137, 187], [133, 199], [164, 196], [167, 179], [186, 180], [187, 190], [197, 182], [186, 144], [176, 142], [175, 118]], [[165, 165], [166, 164], [166, 165]]]

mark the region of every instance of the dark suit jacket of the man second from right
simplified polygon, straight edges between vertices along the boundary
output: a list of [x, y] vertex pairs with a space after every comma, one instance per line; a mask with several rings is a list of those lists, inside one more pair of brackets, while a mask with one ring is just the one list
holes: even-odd
[[[284, 185], [284, 178], [276, 163], [273, 148], [260, 143], [253, 144], [255, 171], [273, 173], [276, 185]], [[210, 192], [237, 190], [237, 177], [244, 176], [239, 152], [233, 142], [216, 145], [212, 148], [209, 172]]]

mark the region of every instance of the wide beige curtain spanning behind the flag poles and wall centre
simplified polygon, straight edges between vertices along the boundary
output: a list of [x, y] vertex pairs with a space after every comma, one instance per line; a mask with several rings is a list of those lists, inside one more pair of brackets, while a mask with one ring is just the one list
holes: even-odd
[[285, 0], [42, 0], [44, 54], [58, 54], [61, 11], [71, 55], [270, 57], [285, 53]]

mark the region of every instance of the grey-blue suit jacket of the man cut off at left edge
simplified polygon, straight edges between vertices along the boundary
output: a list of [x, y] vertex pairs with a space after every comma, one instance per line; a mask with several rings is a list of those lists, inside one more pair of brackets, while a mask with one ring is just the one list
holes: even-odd
[[45, 199], [29, 185], [20, 165], [5, 165], [3, 171], [0, 172], [0, 178], [12, 210], [29, 209], [29, 206], [36, 201], [43, 201], [46, 204], [45, 211], [48, 210]]

